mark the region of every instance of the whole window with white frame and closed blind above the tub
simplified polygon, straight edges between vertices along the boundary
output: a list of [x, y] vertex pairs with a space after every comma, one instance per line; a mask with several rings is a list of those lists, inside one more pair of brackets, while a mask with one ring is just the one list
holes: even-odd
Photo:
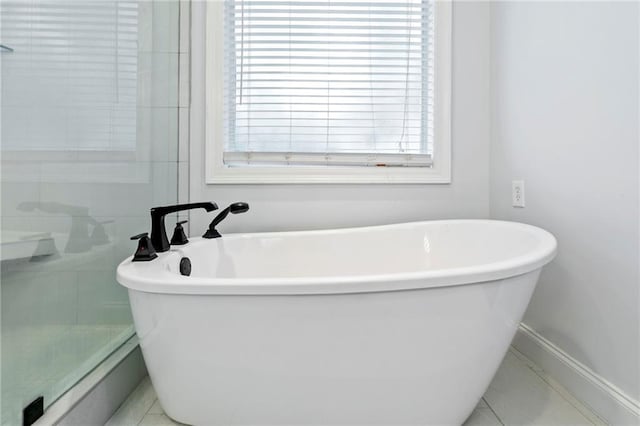
[[208, 183], [450, 180], [450, 4], [208, 7]]

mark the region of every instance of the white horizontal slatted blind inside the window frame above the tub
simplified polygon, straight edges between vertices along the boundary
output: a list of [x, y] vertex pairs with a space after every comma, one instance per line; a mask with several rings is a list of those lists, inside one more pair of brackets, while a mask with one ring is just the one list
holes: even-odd
[[427, 0], [228, 0], [227, 166], [432, 165]]

